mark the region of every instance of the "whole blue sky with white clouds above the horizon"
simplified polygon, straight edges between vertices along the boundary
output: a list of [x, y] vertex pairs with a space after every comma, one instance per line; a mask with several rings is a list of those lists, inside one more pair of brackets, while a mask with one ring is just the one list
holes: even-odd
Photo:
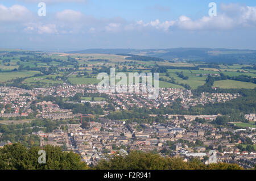
[[256, 49], [256, 1], [0, 0], [0, 48], [179, 47]]

